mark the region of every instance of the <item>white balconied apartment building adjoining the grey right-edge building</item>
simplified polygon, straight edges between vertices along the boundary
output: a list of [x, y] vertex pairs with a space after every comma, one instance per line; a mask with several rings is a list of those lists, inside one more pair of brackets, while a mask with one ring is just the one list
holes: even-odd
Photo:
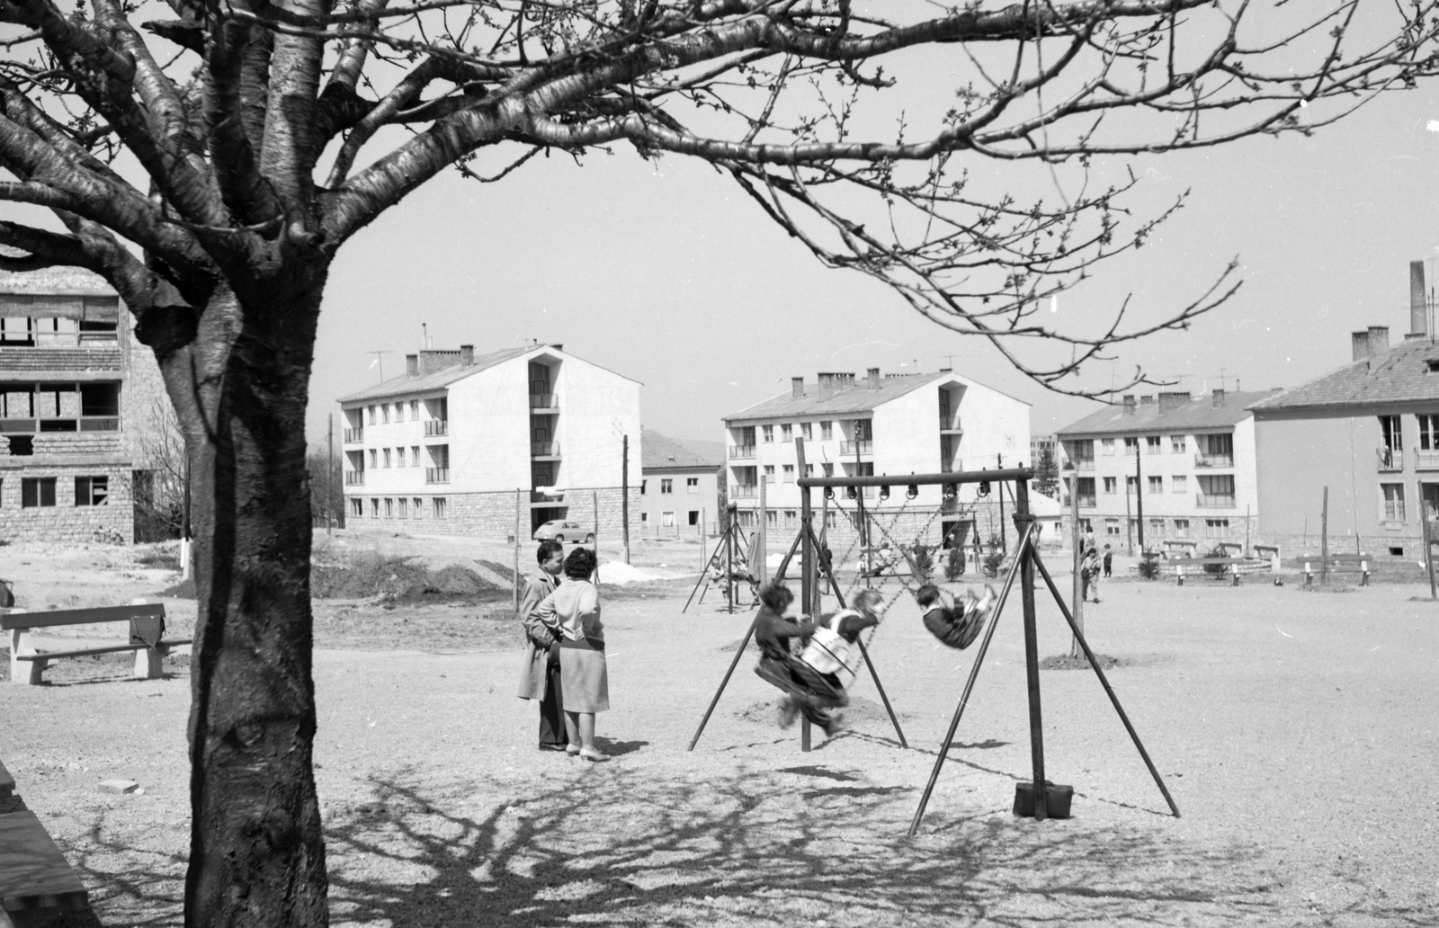
[[1063, 505], [1114, 547], [1140, 541], [1235, 541], [1259, 515], [1255, 420], [1266, 393], [1212, 390], [1122, 397], [1058, 432]]

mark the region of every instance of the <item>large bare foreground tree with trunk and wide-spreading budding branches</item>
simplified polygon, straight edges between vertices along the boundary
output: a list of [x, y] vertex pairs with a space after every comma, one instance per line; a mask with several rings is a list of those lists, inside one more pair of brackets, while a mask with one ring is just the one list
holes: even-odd
[[327, 919], [304, 416], [331, 262], [380, 213], [446, 168], [699, 158], [825, 263], [1082, 393], [1107, 345], [1233, 288], [1048, 325], [1045, 296], [1168, 214], [1131, 219], [1132, 178], [1091, 158], [1334, 119], [1430, 66], [1435, 1], [0, 0], [0, 199], [55, 217], [0, 222], [27, 255], [0, 266], [119, 291], [194, 475], [187, 924]]

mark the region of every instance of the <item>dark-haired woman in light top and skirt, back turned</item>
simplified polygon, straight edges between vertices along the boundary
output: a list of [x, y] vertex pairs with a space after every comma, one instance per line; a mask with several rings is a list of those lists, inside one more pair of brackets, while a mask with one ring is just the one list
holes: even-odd
[[564, 558], [564, 583], [540, 603], [541, 620], [560, 636], [560, 682], [570, 754], [587, 761], [607, 761], [594, 747], [594, 714], [610, 708], [609, 669], [604, 663], [604, 626], [600, 591], [590, 583], [594, 552], [576, 548]]

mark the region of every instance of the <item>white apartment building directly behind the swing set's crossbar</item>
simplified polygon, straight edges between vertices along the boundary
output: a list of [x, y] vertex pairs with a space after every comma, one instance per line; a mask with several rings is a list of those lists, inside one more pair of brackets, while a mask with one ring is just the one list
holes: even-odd
[[[970, 483], [953, 495], [920, 486], [917, 498], [907, 499], [904, 475], [1012, 468], [1029, 456], [1029, 403], [953, 371], [882, 377], [869, 368], [863, 380], [823, 373], [813, 384], [794, 377], [789, 393], [725, 416], [724, 424], [728, 498], [738, 506], [738, 524], [757, 524], [764, 481], [771, 538], [799, 528], [796, 439], [804, 439], [809, 476], [894, 475], [888, 493], [865, 488], [865, 508], [908, 544], [999, 534], [999, 496], [991, 488], [991, 496], [980, 498]], [[819, 493], [813, 502], [819, 508]], [[827, 506], [826, 531], [840, 544], [853, 537], [855, 502], [836, 493]], [[901, 512], [914, 515], [901, 519]]]

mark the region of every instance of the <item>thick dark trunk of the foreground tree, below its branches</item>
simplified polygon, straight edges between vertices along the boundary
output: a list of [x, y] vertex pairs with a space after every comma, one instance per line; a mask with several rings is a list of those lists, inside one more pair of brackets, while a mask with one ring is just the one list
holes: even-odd
[[[197, 324], [140, 331], [155, 348], [194, 475], [186, 925], [328, 922], [305, 468], [325, 269], [301, 276], [243, 299], [222, 283]], [[191, 338], [170, 337], [184, 328]]]

